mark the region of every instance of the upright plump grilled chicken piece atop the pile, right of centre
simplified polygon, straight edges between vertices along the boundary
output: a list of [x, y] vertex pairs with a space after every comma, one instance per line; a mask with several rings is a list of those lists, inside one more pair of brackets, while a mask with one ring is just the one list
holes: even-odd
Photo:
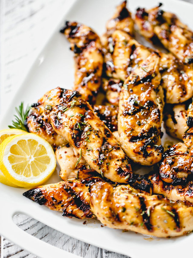
[[159, 54], [150, 54], [130, 74], [120, 93], [119, 142], [127, 156], [141, 165], [159, 162], [163, 152], [160, 139], [163, 93], [159, 86], [159, 60]]

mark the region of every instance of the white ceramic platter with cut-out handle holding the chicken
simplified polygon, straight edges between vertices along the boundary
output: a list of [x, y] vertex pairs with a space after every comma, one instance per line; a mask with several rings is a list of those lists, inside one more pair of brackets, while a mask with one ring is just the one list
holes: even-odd
[[[106, 20], [112, 16], [115, 6], [119, 2], [117, 0], [77, 1], [67, 15], [61, 19], [63, 21], [80, 21], [102, 34], [105, 31]], [[163, 0], [162, 2], [164, 3], [163, 9], [176, 13], [193, 29], [193, 5], [176, 0]], [[138, 6], [150, 8], [156, 4], [157, 2], [154, 0], [129, 0], [128, 7], [134, 11]], [[62, 24], [63, 22], [53, 31], [51, 39], [31, 67], [14, 101], [8, 103], [9, 108], [1, 120], [0, 129], [5, 129], [11, 124], [15, 113], [14, 108], [21, 101], [26, 104], [34, 103], [47, 90], [57, 86], [72, 87], [74, 80], [73, 53], [69, 50], [69, 43], [65, 37], [58, 32]], [[47, 183], [60, 180], [57, 176], [58, 171], [59, 168]], [[71, 237], [132, 258], [161, 258], [163, 254], [167, 257], [173, 255], [182, 257], [192, 251], [193, 234], [171, 239], [154, 238], [152, 241], [148, 241], [149, 237], [134, 232], [100, 227], [101, 224], [96, 220], [87, 220], [87, 224], [83, 225], [81, 220], [62, 217], [61, 213], [50, 211], [48, 208], [28, 200], [22, 196], [24, 191], [26, 189], [10, 188], [0, 184], [0, 234], [38, 257], [78, 256], [53, 247], [22, 231], [12, 220], [14, 214], [26, 214]]]

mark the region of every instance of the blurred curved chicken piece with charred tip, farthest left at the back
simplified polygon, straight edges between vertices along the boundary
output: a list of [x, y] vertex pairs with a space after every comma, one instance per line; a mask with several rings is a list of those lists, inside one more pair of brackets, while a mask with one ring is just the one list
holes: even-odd
[[74, 51], [75, 81], [74, 90], [93, 103], [101, 84], [103, 54], [99, 36], [89, 27], [66, 22], [61, 29]]

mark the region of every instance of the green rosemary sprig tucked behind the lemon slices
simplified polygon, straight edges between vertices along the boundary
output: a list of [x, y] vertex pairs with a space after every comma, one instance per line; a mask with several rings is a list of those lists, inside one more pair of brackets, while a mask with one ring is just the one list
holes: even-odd
[[25, 120], [29, 114], [29, 111], [31, 109], [31, 106], [27, 105], [27, 108], [24, 110], [24, 103], [21, 102], [21, 105], [19, 106], [19, 108], [15, 108], [16, 112], [17, 112], [17, 116], [14, 115], [15, 117], [15, 121], [12, 120], [12, 126], [8, 126], [9, 128], [16, 128], [16, 129], [21, 129], [24, 131], [27, 131], [27, 128], [25, 127], [24, 123]]

